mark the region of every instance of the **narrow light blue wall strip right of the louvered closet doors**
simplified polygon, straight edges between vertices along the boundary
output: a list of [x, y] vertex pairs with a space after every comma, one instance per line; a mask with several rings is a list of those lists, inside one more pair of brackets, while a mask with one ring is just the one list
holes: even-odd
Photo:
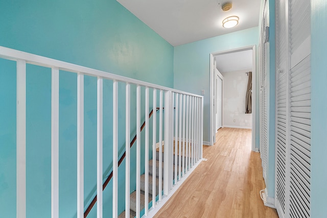
[[311, 0], [311, 217], [327, 217], [327, 2]]

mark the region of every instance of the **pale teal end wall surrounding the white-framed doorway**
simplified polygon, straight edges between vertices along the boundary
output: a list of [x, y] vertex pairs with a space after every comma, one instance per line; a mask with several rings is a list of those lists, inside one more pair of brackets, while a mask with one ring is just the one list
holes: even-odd
[[[209, 115], [210, 115], [210, 70], [209, 54], [238, 49], [244, 46], [257, 45], [258, 54], [258, 27], [233, 32], [209, 39], [204, 39], [174, 47], [174, 88], [201, 94], [204, 89], [203, 102], [203, 140], [209, 140]], [[256, 67], [256, 84], [259, 84], [259, 70]], [[256, 89], [259, 96], [259, 89]], [[259, 101], [256, 101], [256, 111], [259, 111]], [[257, 113], [256, 125], [259, 127], [259, 113]], [[258, 135], [258, 134], [257, 134]], [[259, 135], [255, 138], [259, 146]]]

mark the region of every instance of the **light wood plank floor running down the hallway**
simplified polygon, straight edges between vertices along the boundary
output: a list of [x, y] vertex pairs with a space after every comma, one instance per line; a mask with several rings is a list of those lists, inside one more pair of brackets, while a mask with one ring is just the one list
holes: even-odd
[[278, 217], [264, 206], [260, 154], [251, 152], [251, 130], [222, 128], [214, 146], [154, 217]]

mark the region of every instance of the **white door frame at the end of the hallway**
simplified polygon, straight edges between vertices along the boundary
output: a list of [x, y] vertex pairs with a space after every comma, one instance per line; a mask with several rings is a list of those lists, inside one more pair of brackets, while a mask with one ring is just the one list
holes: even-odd
[[215, 70], [214, 70], [214, 60], [215, 56], [233, 53], [233, 52], [240, 52], [244, 50], [252, 50], [252, 151], [255, 150], [255, 114], [256, 114], [256, 45], [250, 45], [245, 47], [240, 47], [238, 49], [231, 49], [222, 52], [213, 52], [210, 53], [210, 145], [213, 146], [216, 141], [216, 116], [215, 116], [215, 107], [214, 102], [216, 101], [214, 91], [215, 91]]

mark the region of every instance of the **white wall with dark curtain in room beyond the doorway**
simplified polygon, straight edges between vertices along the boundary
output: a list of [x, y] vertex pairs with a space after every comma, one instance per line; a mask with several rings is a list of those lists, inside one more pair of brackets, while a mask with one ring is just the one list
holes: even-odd
[[[223, 84], [223, 126], [252, 128], [252, 114], [245, 113], [245, 95], [251, 69], [222, 72]], [[235, 120], [235, 122], [234, 122]]]

